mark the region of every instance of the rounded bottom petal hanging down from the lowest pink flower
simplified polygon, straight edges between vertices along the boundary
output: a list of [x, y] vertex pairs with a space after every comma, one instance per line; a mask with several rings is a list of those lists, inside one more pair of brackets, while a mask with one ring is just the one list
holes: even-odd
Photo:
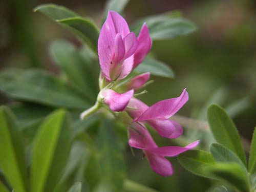
[[155, 173], [163, 177], [173, 175], [172, 164], [164, 156], [146, 152], [146, 151], [145, 151], [145, 156], [150, 162], [150, 165]]

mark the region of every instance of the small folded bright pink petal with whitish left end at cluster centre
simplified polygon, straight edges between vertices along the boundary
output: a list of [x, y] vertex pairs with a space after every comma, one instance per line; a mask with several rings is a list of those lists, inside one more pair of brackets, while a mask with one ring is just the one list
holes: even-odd
[[115, 112], [125, 110], [127, 104], [132, 98], [134, 90], [119, 94], [111, 89], [104, 90], [102, 95], [104, 102], [109, 105], [110, 109]]

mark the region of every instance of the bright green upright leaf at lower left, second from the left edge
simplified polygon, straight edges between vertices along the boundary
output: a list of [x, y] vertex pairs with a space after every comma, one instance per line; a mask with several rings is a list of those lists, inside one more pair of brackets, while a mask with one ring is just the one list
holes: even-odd
[[71, 146], [69, 118], [65, 110], [50, 114], [35, 137], [31, 191], [53, 191], [66, 166]]

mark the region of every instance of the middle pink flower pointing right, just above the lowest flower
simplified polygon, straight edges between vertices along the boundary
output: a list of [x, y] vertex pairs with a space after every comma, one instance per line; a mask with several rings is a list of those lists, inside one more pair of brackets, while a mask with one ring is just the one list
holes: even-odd
[[178, 122], [168, 118], [178, 112], [187, 100], [186, 90], [177, 98], [165, 99], [150, 107], [136, 98], [131, 98], [126, 112], [134, 118], [134, 122], [146, 122], [162, 137], [174, 139], [182, 135], [183, 129]]

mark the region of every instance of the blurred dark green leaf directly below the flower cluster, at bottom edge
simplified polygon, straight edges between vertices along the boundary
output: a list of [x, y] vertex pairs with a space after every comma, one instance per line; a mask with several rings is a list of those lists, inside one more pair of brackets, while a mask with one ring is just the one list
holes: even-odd
[[98, 140], [100, 175], [102, 176], [100, 186], [105, 186], [113, 192], [122, 191], [126, 176], [124, 158], [110, 120], [102, 121]]

